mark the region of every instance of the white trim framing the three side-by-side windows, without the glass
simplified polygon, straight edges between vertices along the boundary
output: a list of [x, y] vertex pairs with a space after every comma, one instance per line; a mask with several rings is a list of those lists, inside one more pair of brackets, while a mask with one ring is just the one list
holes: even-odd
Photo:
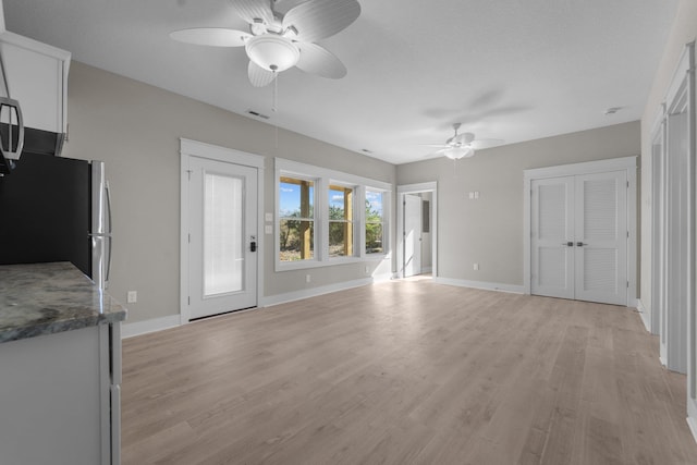
[[[365, 191], [381, 191], [386, 195], [382, 198], [383, 217], [387, 219], [388, 229], [391, 228], [390, 221], [390, 199], [392, 184], [382, 181], [371, 180], [355, 174], [343, 173], [341, 171], [329, 170], [326, 168], [315, 167], [313, 164], [301, 163], [297, 161], [286, 160], [283, 158], [274, 159], [274, 264], [276, 271], [299, 270], [307, 268], [330, 267], [335, 265], [353, 264], [367, 260], [382, 260], [389, 254], [390, 243], [382, 254], [365, 253], [365, 208], [354, 209], [354, 255], [351, 257], [329, 257], [329, 198], [328, 191], [330, 185], [343, 185], [354, 188], [356, 205], [365, 205]], [[298, 178], [311, 180], [315, 182], [315, 258], [302, 261], [281, 261], [279, 250], [281, 248], [280, 216], [279, 216], [279, 183], [281, 176]], [[357, 233], [357, 234], [356, 234]], [[389, 237], [389, 231], [384, 234]], [[357, 237], [357, 241], [355, 238]], [[357, 249], [356, 249], [357, 247]], [[356, 252], [357, 250], [357, 252]]]

